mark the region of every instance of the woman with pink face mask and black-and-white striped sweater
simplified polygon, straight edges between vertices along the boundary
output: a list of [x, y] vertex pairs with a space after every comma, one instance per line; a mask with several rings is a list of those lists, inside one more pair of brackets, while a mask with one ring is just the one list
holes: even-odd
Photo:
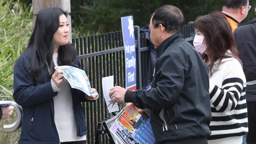
[[198, 17], [193, 44], [209, 66], [212, 120], [208, 144], [241, 144], [248, 131], [245, 75], [231, 27], [222, 13]]

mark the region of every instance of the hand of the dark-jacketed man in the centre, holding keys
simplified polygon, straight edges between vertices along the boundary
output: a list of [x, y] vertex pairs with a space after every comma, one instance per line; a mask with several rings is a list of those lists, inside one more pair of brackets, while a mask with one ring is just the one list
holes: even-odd
[[127, 89], [124, 89], [120, 86], [112, 87], [109, 91], [109, 98], [113, 100], [113, 102], [124, 102], [124, 94]]

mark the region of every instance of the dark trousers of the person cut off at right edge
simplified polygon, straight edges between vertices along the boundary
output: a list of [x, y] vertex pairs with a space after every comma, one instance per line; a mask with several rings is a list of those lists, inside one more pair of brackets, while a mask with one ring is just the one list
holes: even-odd
[[248, 133], [247, 144], [256, 144], [256, 102], [247, 102], [248, 111]]

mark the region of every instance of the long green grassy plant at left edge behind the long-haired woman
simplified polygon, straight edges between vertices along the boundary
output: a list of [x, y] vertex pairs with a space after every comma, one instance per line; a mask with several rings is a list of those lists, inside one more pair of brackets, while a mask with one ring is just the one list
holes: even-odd
[[[13, 101], [13, 67], [24, 51], [33, 28], [31, 6], [27, 7], [14, 0], [0, 0], [0, 98]], [[3, 124], [11, 124], [15, 114], [0, 122], [0, 143], [15, 144], [20, 130], [4, 133]]]

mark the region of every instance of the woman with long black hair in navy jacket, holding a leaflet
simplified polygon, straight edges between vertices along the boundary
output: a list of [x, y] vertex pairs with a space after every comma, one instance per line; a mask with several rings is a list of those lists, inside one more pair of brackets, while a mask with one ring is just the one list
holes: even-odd
[[16, 62], [13, 98], [22, 106], [19, 144], [85, 143], [81, 102], [98, 96], [71, 89], [62, 70], [54, 70], [61, 65], [81, 68], [76, 50], [68, 44], [66, 15], [56, 7], [39, 11], [28, 47]]

